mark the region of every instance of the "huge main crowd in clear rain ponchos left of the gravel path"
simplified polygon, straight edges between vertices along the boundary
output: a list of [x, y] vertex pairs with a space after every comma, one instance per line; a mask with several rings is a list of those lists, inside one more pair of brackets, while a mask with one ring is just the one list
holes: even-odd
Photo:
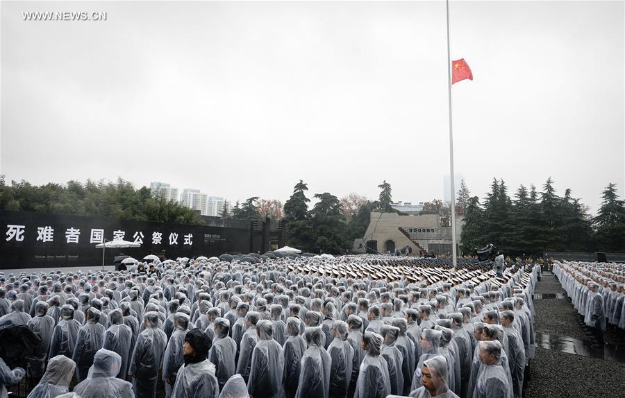
[[40, 336], [26, 370], [0, 358], [0, 398], [25, 374], [28, 398], [522, 397], [540, 267], [390, 259], [0, 274], [0, 329]]

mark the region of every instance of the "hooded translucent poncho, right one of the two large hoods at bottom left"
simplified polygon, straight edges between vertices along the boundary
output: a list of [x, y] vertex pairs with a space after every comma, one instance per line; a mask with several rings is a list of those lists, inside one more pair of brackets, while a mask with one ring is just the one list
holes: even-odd
[[121, 365], [122, 358], [117, 353], [99, 349], [87, 379], [78, 383], [74, 392], [89, 398], [133, 398], [131, 383], [115, 377]]

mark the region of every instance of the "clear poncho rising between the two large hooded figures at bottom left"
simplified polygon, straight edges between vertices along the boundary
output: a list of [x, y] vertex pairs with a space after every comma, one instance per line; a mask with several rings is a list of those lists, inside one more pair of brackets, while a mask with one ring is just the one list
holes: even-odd
[[[87, 310], [87, 323], [81, 327], [76, 337], [76, 346], [72, 359], [76, 362], [76, 379], [85, 380], [95, 354], [102, 348], [106, 329], [99, 324], [100, 311], [94, 308]], [[119, 358], [121, 361], [122, 358]], [[115, 374], [117, 375], [117, 373]], [[114, 376], [115, 376], [114, 375]]]

